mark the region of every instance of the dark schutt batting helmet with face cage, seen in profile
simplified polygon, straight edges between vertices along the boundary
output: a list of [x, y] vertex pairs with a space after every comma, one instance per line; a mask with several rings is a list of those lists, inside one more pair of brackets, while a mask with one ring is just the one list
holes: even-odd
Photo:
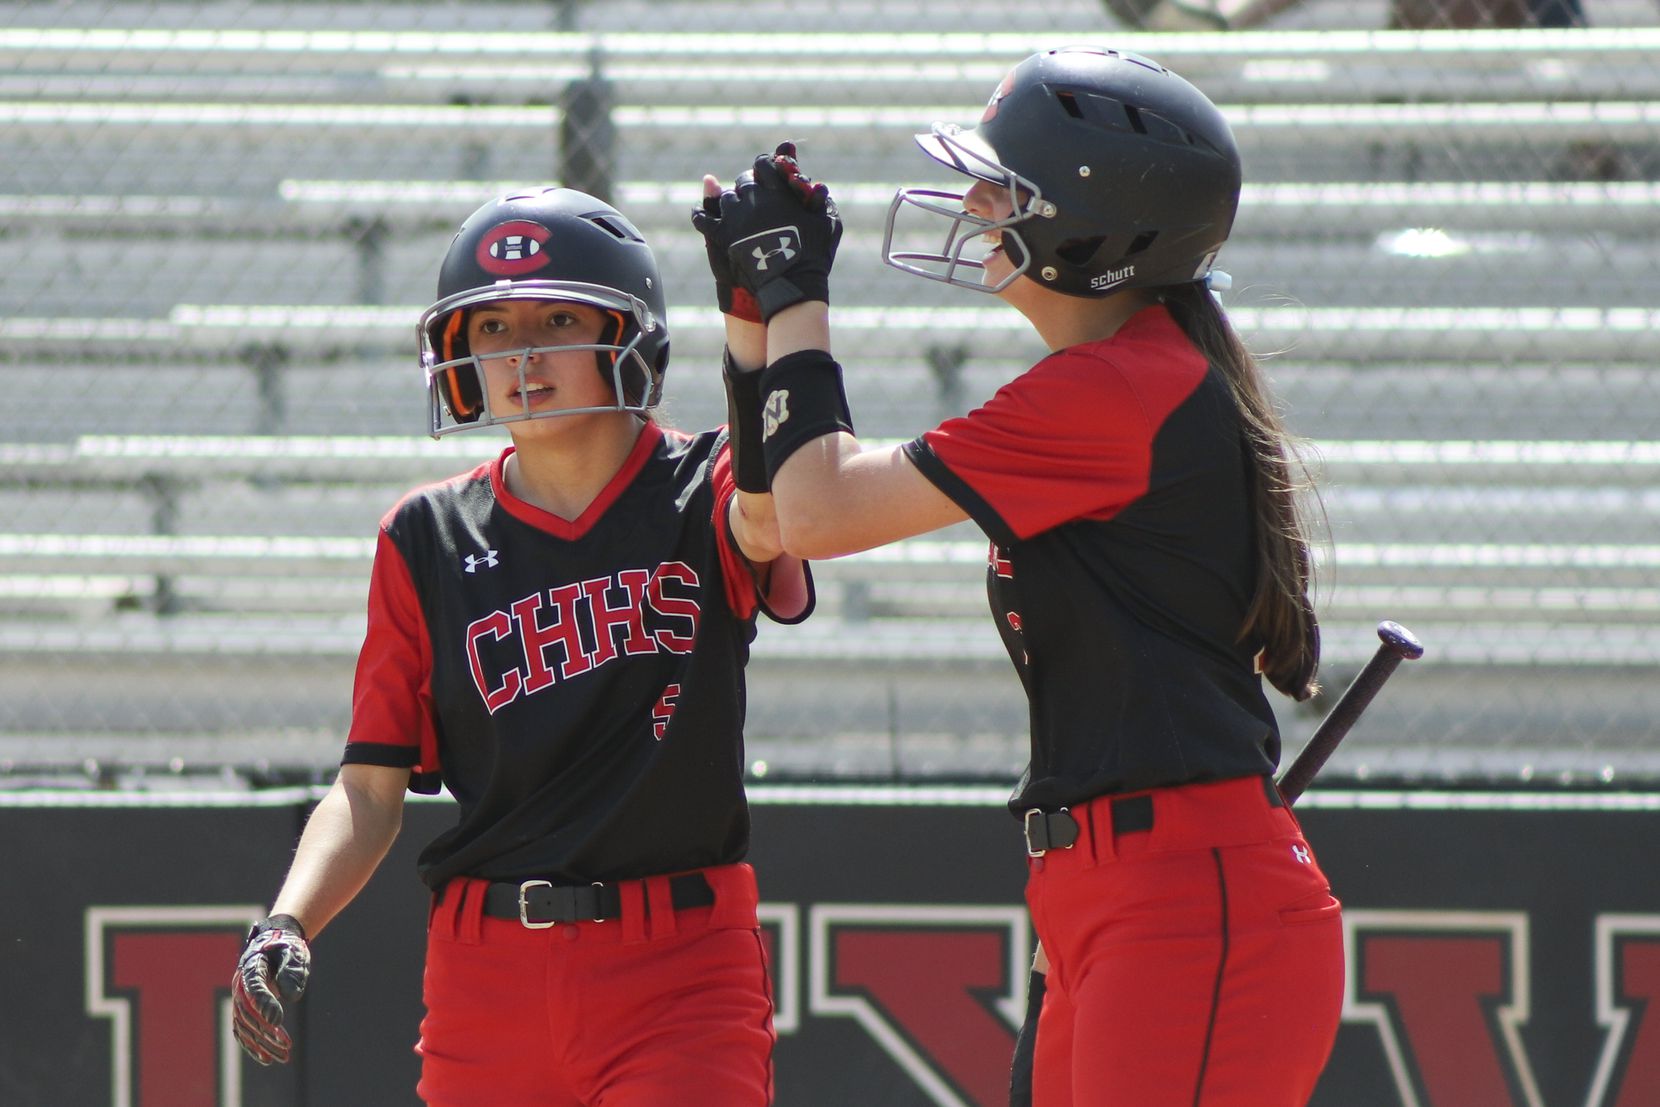
[[[976, 227], [974, 216], [946, 207], [951, 193], [901, 189], [885, 261], [981, 292], [1018, 276], [1081, 297], [1202, 280], [1238, 206], [1238, 149], [1222, 113], [1157, 61], [1120, 50], [1036, 53], [1003, 78], [976, 128], [936, 123], [916, 143], [946, 168], [1008, 189], [1013, 214], [1008, 226]], [[908, 207], [953, 221], [943, 249], [895, 249], [895, 217]], [[961, 259], [964, 227], [1001, 229], [1016, 277], [959, 277], [973, 271]]]

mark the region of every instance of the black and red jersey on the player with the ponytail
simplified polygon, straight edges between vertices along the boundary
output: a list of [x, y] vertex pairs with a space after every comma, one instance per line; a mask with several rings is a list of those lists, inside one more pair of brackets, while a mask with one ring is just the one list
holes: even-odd
[[906, 453], [993, 541], [991, 607], [1031, 700], [1016, 812], [1275, 768], [1238, 641], [1257, 578], [1243, 425], [1164, 307]]

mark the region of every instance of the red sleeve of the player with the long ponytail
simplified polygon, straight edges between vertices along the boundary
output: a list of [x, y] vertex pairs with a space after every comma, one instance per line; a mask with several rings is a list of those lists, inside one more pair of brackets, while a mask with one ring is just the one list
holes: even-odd
[[1051, 354], [906, 453], [1003, 544], [1112, 518], [1147, 491], [1154, 438], [1205, 372], [1167, 312], [1142, 312], [1112, 339]]

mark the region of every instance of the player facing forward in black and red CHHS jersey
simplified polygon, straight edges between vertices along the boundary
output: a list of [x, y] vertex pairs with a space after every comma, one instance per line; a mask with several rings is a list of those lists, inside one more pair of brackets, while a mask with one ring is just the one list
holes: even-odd
[[[609, 204], [485, 204], [418, 330], [428, 430], [511, 445], [382, 519], [344, 763], [237, 966], [237, 1039], [287, 1061], [307, 943], [385, 856], [405, 788], [443, 785], [425, 1102], [769, 1104], [744, 664], [757, 612], [808, 614], [805, 566], [724, 428], [652, 418], [662, 279]], [[734, 368], [764, 363], [759, 322], [727, 337]]]

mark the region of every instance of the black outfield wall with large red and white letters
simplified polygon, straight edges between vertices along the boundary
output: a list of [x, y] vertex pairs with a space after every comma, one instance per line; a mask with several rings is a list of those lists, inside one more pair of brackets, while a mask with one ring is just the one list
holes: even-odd
[[[447, 802], [410, 805], [317, 941], [297, 1061], [231, 1044], [241, 933], [314, 798], [0, 793], [0, 1104], [415, 1105], [413, 858]], [[752, 800], [779, 1107], [1001, 1107], [1031, 948], [1001, 793]], [[1660, 797], [1315, 792], [1298, 815], [1350, 941], [1315, 1107], [1660, 1104]]]

